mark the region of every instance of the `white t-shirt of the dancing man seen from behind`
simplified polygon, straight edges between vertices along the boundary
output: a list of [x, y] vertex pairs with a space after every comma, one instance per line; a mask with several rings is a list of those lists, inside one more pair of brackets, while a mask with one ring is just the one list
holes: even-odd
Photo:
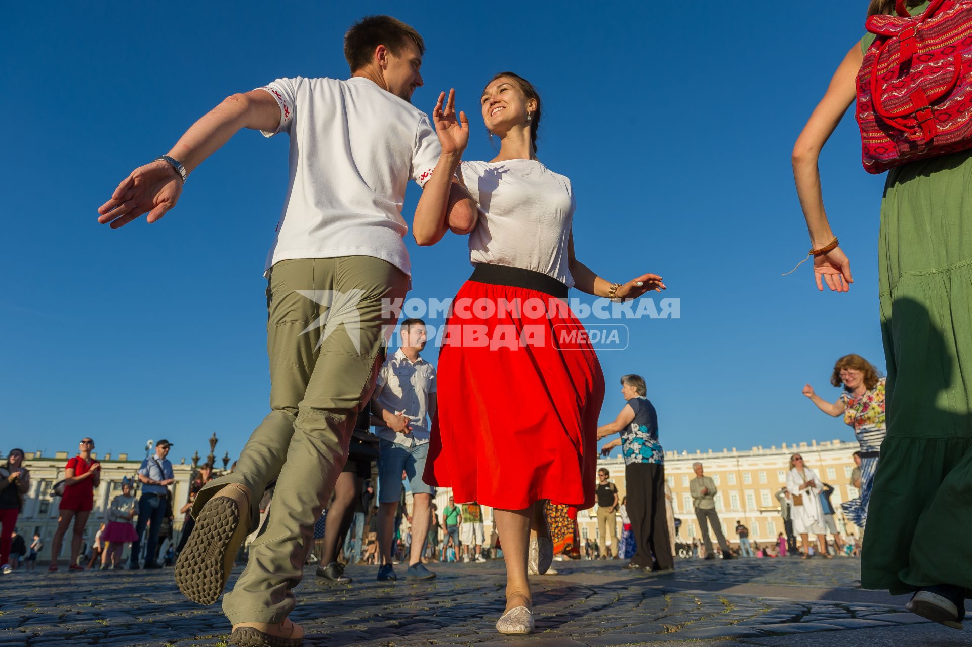
[[371, 256], [411, 273], [401, 217], [409, 178], [423, 186], [438, 162], [429, 118], [373, 81], [277, 79], [291, 136], [290, 184], [264, 270], [289, 259]]

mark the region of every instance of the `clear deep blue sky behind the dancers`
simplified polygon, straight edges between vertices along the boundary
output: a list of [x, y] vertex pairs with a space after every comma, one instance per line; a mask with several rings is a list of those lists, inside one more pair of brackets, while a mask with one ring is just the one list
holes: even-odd
[[[884, 177], [866, 174], [852, 116], [821, 160], [845, 295], [816, 292], [789, 153], [867, 3], [19, 3], [0, 24], [7, 89], [0, 449], [235, 458], [267, 411], [262, 263], [287, 182], [287, 140], [240, 132], [191, 176], [155, 225], [119, 231], [95, 209], [135, 167], [234, 91], [281, 76], [348, 75], [344, 30], [366, 13], [418, 28], [431, 112], [455, 87], [471, 114], [467, 159], [494, 153], [476, 97], [496, 72], [544, 101], [538, 156], [573, 180], [577, 256], [610, 280], [664, 276], [681, 318], [640, 320], [605, 351], [602, 420], [617, 379], [645, 377], [666, 449], [748, 449], [852, 439], [800, 393], [836, 399], [834, 360], [884, 370], [877, 234]], [[418, 189], [409, 190], [410, 222]], [[411, 297], [451, 297], [466, 239], [409, 238]], [[428, 353], [427, 353], [428, 354]], [[432, 350], [430, 359], [434, 360]]]

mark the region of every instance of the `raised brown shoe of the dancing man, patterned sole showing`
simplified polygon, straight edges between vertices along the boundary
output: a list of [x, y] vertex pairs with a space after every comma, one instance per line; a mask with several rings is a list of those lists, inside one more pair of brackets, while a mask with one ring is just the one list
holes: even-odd
[[199, 604], [218, 600], [249, 529], [249, 488], [226, 485], [203, 506], [179, 554], [175, 572], [179, 591]]

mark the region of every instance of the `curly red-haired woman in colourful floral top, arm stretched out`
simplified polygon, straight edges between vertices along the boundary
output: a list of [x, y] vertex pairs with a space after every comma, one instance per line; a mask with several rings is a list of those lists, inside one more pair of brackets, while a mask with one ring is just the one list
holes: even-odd
[[837, 360], [834, 373], [830, 376], [834, 386], [844, 386], [844, 392], [837, 402], [831, 404], [814, 392], [807, 384], [803, 394], [810, 398], [823, 413], [844, 416], [844, 421], [853, 427], [853, 434], [860, 444], [860, 485], [854, 484], [860, 494], [852, 501], [841, 504], [848, 520], [858, 527], [864, 527], [867, 520], [867, 503], [871, 498], [871, 485], [878, 471], [881, 457], [881, 443], [885, 440], [885, 378], [860, 355], [845, 355]]

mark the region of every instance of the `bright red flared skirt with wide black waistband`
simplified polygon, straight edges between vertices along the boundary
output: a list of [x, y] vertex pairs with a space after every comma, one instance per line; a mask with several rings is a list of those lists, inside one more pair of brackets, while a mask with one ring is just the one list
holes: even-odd
[[443, 334], [426, 484], [502, 510], [594, 506], [605, 381], [566, 295], [539, 272], [477, 266]]

